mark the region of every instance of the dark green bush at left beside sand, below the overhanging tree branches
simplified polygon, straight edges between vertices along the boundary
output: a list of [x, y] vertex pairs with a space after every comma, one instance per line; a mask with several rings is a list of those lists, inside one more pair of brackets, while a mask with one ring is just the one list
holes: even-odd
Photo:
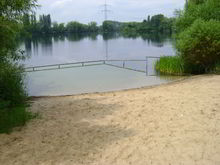
[[23, 126], [34, 115], [26, 110], [27, 94], [22, 68], [11, 63], [0, 64], [0, 133]]

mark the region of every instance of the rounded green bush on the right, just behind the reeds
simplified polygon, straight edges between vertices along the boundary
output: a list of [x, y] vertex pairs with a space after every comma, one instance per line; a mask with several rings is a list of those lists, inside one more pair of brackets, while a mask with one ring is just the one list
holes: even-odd
[[178, 36], [177, 50], [185, 63], [185, 71], [205, 73], [220, 61], [220, 22], [196, 20]]

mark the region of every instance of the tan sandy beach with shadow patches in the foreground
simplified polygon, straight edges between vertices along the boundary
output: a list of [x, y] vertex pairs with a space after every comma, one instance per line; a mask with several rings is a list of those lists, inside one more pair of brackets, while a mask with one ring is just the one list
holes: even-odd
[[220, 76], [151, 89], [34, 99], [0, 135], [0, 164], [220, 165]]

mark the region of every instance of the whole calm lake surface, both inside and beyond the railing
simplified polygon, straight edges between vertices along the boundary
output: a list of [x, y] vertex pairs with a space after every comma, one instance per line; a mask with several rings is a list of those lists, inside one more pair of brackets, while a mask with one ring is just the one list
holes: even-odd
[[[125, 37], [120, 34], [72, 34], [44, 36], [25, 40], [21, 48], [29, 58], [26, 67], [95, 60], [146, 60], [146, 56], [175, 55], [170, 36]], [[154, 63], [148, 61], [108, 62], [110, 65], [86, 66], [27, 73], [31, 96], [69, 95], [138, 88], [170, 82], [178, 77], [156, 75]]]

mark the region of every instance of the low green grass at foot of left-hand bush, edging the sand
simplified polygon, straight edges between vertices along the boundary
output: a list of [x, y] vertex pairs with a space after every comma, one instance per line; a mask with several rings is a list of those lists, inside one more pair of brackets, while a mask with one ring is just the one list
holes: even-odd
[[2, 108], [7, 103], [0, 103], [0, 133], [10, 133], [14, 127], [24, 126], [30, 119], [36, 117], [26, 110], [26, 106]]

